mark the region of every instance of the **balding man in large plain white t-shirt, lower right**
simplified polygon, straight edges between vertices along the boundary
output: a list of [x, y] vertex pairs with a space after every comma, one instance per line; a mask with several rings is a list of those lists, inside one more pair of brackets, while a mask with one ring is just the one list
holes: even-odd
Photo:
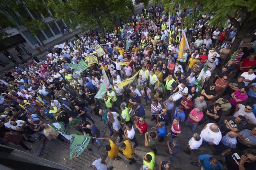
[[208, 123], [201, 131], [201, 137], [203, 138], [202, 145], [219, 145], [222, 135], [220, 129], [214, 123]]

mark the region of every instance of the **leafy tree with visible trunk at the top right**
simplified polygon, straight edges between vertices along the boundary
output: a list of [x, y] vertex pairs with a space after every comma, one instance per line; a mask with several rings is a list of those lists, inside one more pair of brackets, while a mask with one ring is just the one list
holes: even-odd
[[[256, 3], [254, 0], [154, 0], [154, 3], [161, 2], [162, 6], [170, 14], [175, 14], [176, 10], [173, 8], [174, 4], [180, 4], [180, 9], [185, 8], [195, 9], [195, 2], [197, 2], [198, 10], [191, 16], [185, 17], [185, 25], [194, 23], [197, 17], [202, 14], [212, 14], [210, 25], [218, 25], [222, 27], [227, 26], [229, 19], [237, 28], [236, 38], [232, 44], [231, 54], [238, 49], [242, 39], [246, 33], [252, 29], [256, 20]], [[236, 14], [240, 14], [241, 21], [236, 20]]]

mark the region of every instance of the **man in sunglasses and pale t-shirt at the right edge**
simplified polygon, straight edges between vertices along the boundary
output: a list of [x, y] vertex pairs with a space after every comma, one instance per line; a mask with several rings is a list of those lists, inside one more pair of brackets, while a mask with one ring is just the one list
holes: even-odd
[[239, 115], [242, 115], [246, 118], [246, 121], [243, 121], [242, 123], [244, 125], [246, 125], [247, 123], [250, 123], [254, 126], [256, 126], [256, 117], [255, 115], [252, 113], [252, 110], [254, 109], [253, 105], [242, 105], [242, 104], [238, 104], [236, 106], [236, 110], [238, 110], [236, 113], [234, 113], [234, 117], [238, 117]]

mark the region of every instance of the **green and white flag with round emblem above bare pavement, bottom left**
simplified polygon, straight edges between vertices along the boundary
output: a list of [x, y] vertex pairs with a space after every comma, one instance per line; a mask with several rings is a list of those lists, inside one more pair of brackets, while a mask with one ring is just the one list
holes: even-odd
[[77, 158], [90, 142], [91, 137], [71, 134], [70, 135], [70, 159]]

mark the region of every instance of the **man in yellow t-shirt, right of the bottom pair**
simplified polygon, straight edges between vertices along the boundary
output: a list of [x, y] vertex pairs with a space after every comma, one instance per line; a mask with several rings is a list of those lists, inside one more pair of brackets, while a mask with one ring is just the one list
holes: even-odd
[[120, 143], [120, 149], [122, 149], [123, 151], [123, 154], [124, 156], [126, 156], [126, 158], [128, 160], [130, 160], [129, 164], [132, 165], [132, 164], [135, 164], [136, 161], [135, 159], [133, 158], [134, 156], [134, 150], [132, 149], [132, 145], [131, 145], [131, 142], [126, 140], [124, 141], [123, 143]]

